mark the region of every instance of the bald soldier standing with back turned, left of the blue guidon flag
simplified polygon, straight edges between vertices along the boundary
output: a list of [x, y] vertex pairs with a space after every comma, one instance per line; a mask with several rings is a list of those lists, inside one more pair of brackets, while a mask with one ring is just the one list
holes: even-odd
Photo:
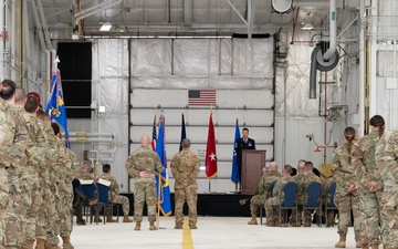
[[140, 222], [143, 221], [143, 208], [146, 200], [148, 206], [149, 230], [157, 230], [155, 227], [156, 220], [156, 187], [155, 174], [156, 170], [161, 173], [164, 167], [159, 156], [153, 152], [148, 146], [150, 139], [148, 135], [143, 135], [140, 138], [140, 148], [135, 151], [126, 160], [125, 167], [127, 173], [134, 178], [134, 221], [136, 226], [134, 230], [140, 230]]

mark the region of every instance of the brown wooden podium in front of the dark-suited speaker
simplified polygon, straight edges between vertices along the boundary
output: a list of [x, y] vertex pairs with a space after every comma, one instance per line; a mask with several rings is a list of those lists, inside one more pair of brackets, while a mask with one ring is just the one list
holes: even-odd
[[242, 194], [254, 195], [262, 176], [262, 169], [265, 167], [265, 153], [266, 151], [260, 149], [242, 151]]

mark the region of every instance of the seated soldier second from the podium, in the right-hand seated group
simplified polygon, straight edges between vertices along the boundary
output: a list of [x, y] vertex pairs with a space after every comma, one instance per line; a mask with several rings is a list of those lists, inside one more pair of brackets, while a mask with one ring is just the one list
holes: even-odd
[[[291, 176], [293, 169], [292, 166], [285, 165], [283, 167], [283, 176], [279, 180], [276, 180], [272, 198], [269, 198], [265, 201], [265, 215], [266, 215], [266, 226], [268, 227], [276, 227], [279, 222], [282, 222], [282, 220], [279, 220], [277, 217], [277, 209], [275, 209], [275, 206], [280, 205], [283, 201], [284, 193], [282, 191], [283, 187], [290, 183], [294, 183], [294, 178]], [[277, 208], [277, 207], [276, 207]]]

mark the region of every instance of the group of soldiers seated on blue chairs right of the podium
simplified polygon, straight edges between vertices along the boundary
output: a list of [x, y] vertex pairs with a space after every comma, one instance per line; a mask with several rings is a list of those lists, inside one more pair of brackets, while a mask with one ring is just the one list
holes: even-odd
[[[306, 187], [311, 183], [320, 183], [323, 186], [322, 191], [322, 203], [329, 204], [331, 196], [328, 194], [328, 187], [334, 183], [333, 177], [327, 178], [327, 180], [323, 180], [318, 175], [314, 172], [317, 170], [314, 168], [312, 162], [301, 160], [297, 165], [297, 174], [293, 174], [293, 167], [290, 165], [285, 165], [282, 174], [277, 172], [276, 162], [272, 162], [269, 166], [269, 169], [260, 179], [258, 194], [254, 195], [250, 200], [250, 210], [252, 218], [248, 222], [249, 225], [258, 225], [256, 214], [259, 211], [259, 207], [265, 207], [265, 216], [266, 216], [266, 226], [274, 227], [279, 226], [280, 222], [282, 226], [291, 226], [291, 227], [311, 227], [312, 224], [312, 210], [304, 211], [304, 222], [303, 222], [303, 205], [306, 205], [307, 201], [307, 193], [305, 191]], [[294, 176], [292, 176], [294, 175]], [[298, 216], [296, 210], [293, 210], [291, 215], [290, 222], [287, 220], [279, 220], [279, 209], [277, 206], [283, 200], [283, 187], [286, 183], [295, 183], [298, 186], [297, 195], [295, 198], [295, 204], [297, 205]], [[270, 193], [270, 186], [274, 184], [273, 191]], [[322, 214], [318, 214], [320, 216]], [[327, 214], [327, 226], [334, 226], [334, 210], [328, 210]], [[289, 224], [287, 224], [289, 222]]]

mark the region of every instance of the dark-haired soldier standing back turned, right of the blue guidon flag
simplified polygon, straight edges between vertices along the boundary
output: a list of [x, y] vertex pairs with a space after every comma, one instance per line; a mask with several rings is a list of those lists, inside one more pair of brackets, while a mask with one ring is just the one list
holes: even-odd
[[175, 229], [182, 229], [184, 203], [187, 201], [189, 208], [189, 228], [197, 229], [197, 201], [199, 175], [199, 156], [190, 151], [188, 138], [181, 142], [182, 151], [177, 153], [171, 160], [170, 168], [175, 178]]

